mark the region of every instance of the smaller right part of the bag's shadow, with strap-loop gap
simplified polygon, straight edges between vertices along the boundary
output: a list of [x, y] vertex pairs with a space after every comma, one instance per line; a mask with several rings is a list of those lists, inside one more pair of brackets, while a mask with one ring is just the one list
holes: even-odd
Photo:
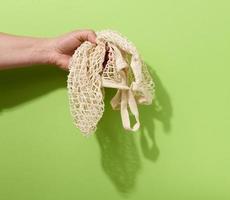
[[142, 125], [140, 127], [140, 143], [144, 157], [155, 162], [160, 154], [155, 139], [155, 121], [160, 121], [164, 132], [169, 133], [173, 110], [169, 94], [159, 76], [150, 66], [148, 66], [148, 70], [155, 83], [155, 98], [152, 105], [140, 105], [140, 122]]

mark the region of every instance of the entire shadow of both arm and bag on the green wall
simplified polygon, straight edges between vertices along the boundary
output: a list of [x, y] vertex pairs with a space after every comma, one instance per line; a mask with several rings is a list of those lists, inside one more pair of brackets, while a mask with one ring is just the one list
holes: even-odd
[[[155, 139], [155, 121], [170, 131], [172, 106], [169, 95], [158, 75], [150, 69], [156, 83], [156, 98], [153, 105], [140, 106], [140, 134], [130, 134], [121, 124], [120, 113], [113, 111], [110, 100], [115, 90], [106, 89], [105, 112], [98, 124], [96, 138], [101, 149], [102, 167], [122, 194], [131, 193], [141, 169], [141, 156], [136, 141], [145, 158], [157, 161], [159, 148]], [[32, 101], [58, 88], [66, 88], [67, 72], [51, 66], [33, 66], [0, 71], [0, 114], [4, 109]]]

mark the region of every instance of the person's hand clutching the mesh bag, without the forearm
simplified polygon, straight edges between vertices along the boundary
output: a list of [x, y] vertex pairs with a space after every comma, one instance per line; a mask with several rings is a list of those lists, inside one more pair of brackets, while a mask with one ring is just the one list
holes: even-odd
[[49, 40], [49, 64], [68, 70], [74, 51], [85, 41], [96, 44], [96, 34], [93, 30], [77, 30]]

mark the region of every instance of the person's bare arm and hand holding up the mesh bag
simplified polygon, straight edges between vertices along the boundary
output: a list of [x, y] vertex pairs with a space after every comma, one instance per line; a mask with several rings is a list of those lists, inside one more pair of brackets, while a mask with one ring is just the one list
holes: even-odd
[[55, 65], [68, 70], [74, 51], [84, 42], [96, 44], [93, 30], [76, 30], [53, 38], [16, 36], [0, 33], [0, 70]]

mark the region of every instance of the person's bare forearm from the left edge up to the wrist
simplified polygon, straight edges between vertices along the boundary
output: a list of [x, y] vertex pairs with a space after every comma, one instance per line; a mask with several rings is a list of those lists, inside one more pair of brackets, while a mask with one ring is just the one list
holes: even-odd
[[50, 40], [0, 33], [0, 69], [48, 64]]

